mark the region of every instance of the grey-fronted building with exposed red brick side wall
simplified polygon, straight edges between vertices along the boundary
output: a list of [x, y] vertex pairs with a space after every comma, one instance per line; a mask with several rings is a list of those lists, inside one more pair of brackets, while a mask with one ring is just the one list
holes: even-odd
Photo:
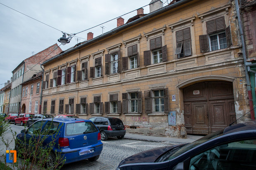
[[22, 95], [27, 96], [29, 93], [30, 88], [22, 88], [21, 84], [42, 70], [40, 65], [43, 61], [60, 54], [61, 51], [57, 44], [53, 44], [47, 49], [26, 58], [12, 71], [13, 79], [9, 113], [20, 113]]

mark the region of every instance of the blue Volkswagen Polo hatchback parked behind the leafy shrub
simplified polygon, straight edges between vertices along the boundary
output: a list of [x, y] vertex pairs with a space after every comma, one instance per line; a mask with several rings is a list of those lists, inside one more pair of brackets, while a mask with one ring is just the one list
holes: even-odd
[[[74, 118], [53, 118], [38, 120], [33, 123], [26, 131], [22, 130], [17, 135], [17, 141], [25, 142], [29, 144], [29, 139], [35, 136], [35, 132], [40, 130], [44, 132], [47, 129], [54, 130], [49, 137], [43, 142], [45, 146], [55, 140], [52, 135], [58, 131], [57, 140], [52, 148], [52, 153], [49, 156], [49, 162], [46, 165], [49, 167], [51, 161], [55, 161], [56, 153], [60, 153], [63, 159], [66, 159], [65, 163], [72, 163], [89, 159], [89, 161], [96, 161], [103, 149], [103, 144], [100, 141], [100, 132], [96, 126], [89, 120], [74, 119]], [[50, 130], [50, 131], [51, 131]], [[58, 146], [60, 145], [60, 147]], [[18, 149], [19, 142], [15, 143], [15, 148]], [[18, 153], [17, 153], [18, 154]]]

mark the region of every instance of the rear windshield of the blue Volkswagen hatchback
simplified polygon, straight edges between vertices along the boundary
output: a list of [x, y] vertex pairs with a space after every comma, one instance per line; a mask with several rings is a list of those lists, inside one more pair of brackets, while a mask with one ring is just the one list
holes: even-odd
[[79, 135], [85, 133], [98, 132], [98, 129], [91, 121], [68, 123], [66, 125], [65, 135]]

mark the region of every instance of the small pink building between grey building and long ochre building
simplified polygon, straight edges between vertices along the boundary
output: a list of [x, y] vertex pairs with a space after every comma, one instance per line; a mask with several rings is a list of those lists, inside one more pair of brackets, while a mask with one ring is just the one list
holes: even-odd
[[25, 92], [22, 93], [21, 113], [39, 113], [42, 77], [43, 71], [34, 74], [21, 84], [24, 91], [29, 89], [27, 95], [25, 95]]

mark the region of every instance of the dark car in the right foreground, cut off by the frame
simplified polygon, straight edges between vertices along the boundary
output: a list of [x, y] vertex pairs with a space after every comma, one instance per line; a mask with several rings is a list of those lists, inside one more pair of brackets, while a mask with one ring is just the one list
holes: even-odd
[[116, 170], [254, 170], [256, 121], [228, 126], [189, 144], [129, 156]]

